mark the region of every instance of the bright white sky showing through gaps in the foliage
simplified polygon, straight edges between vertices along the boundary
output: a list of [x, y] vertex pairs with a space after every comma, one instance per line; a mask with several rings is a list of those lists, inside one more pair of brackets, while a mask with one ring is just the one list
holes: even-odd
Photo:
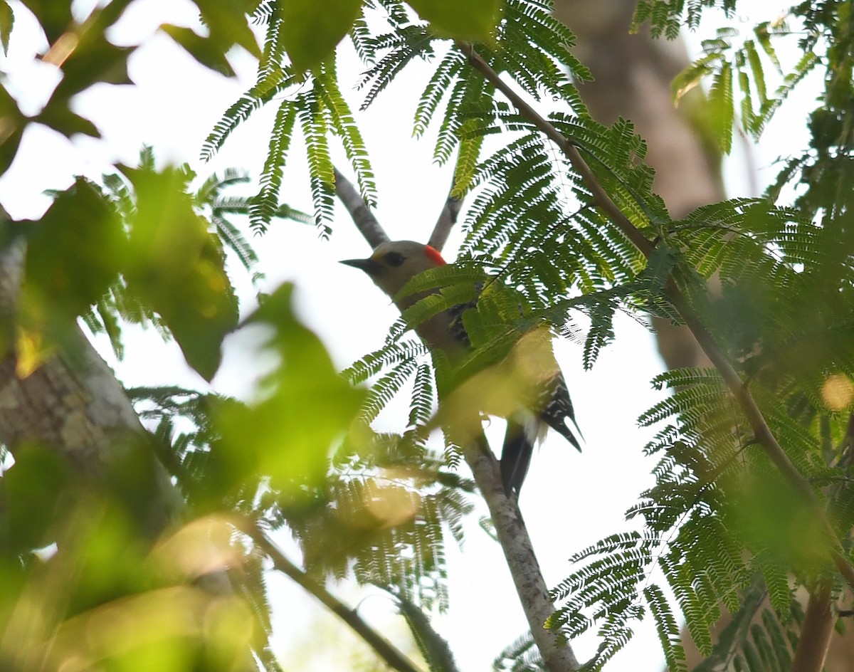
[[[90, 4], [76, 3], [83, 9]], [[9, 58], [0, 56], [0, 69], [7, 74], [10, 88], [20, 91], [30, 106], [26, 111], [34, 113], [56, 84], [56, 73], [52, 67], [32, 61], [33, 51], [44, 48], [44, 38], [35, 31], [32, 20], [27, 20], [26, 10], [19, 11], [18, 3], [14, 6], [18, 20]], [[133, 44], [146, 40], [161, 22], [194, 25], [195, 17], [194, 6], [186, 0], [140, 0], [111, 37], [118, 44]], [[202, 177], [225, 167], [247, 168], [257, 177], [266, 155], [270, 111], [261, 111], [238, 129], [211, 164], [198, 161], [208, 131], [225, 108], [254, 82], [251, 57], [237, 52], [232, 65], [238, 81], [198, 66], [169, 38], [155, 34], [130, 60], [135, 86], [99, 85], [75, 102], [80, 114], [96, 122], [102, 140], [78, 137], [69, 143], [54, 131], [31, 127], [13, 167], [0, 178], [0, 202], [15, 218], [36, 218], [49, 204], [41, 194], [43, 190], [62, 189], [79, 173], [97, 178], [114, 161], [134, 164], [143, 143], [154, 147], [158, 161], [189, 161]], [[342, 64], [341, 70], [346, 92], [348, 79], [355, 82], [360, 70], [352, 62]], [[377, 174], [377, 216], [393, 238], [426, 240], [450, 182], [447, 168], [430, 161], [430, 138], [420, 142], [411, 138], [412, 112], [420, 85], [416, 76], [396, 83], [359, 118]], [[360, 99], [358, 93], [350, 97], [354, 108]], [[809, 109], [811, 96], [800, 96], [798, 103]], [[805, 137], [803, 113], [788, 119], [772, 126], [763, 148], [753, 150], [758, 166], [768, 167], [777, 154], [803, 145], [803, 140], [795, 137], [798, 133]], [[294, 148], [291, 156], [283, 198], [310, 211], [307, 179], [299, 166], [300, 150]], [[744, 164], [743, 156], [729, 161], [731, 196], [752, 195], [746, 192]], [[459, 237], [448, 243], [448, 256], [453, 256], [454, 240], [459, 241]], [[284, 280], [296, 283], [301, 316], [319, 333], [337, 365], [350, 364], [382, 342], [395, 310], [367, 278], [337, 263], [368, 252], [346, 213], [336, 215], [329, 242], [320, 241], [310, 226], [289, 223], [275, 225], [254, 243], [261, 258], [260, 270], [268, 278], [266, 289]], [[244, 300], [249, 300], [254, 291], [237, 267], [234, 278]], [[204, 389], [201, 378], [186, 369], [178, 348], [164, 346], [154, 333], [130, 332], [128, 359], [122, 363], [116, 363], [105, 344], [100, 344], [102, 353], [128, 385], [182, 383]], [[640, 490], [652, 484], [649, 471], [653, 463], [640, 456], [652, 433], [637, 429], [635, 419], [658, 398], [653, 396], [656, 393], [652, 393], [649, 380], [661, 370], [652, 337], [629, 318], [618, 321], [617, 341], [603, 352], [592, 372], [580, 368], [580, 347], [559, 343], [557, 352], [586, 443], [579, 455], [560, 437], [550, 438], [535, 456], [525, 482], [522, 510], [550, 585], [566, 576], [569, 568], [565, 558], [571, 552], [626, 529], [623, 512], [635, 503]], [[214, 380], [215, 389], [226, 394], [250, 394], [257, 371], [257, 357], [249, 340], [231, 339], [225, 365]], [[381, 420], [396, 426], [394, 412]], [[498, 429], [497, 424], [494, 429]], [[554, 508], [557, 501], [564, 502], [560, 509]], [[500, 649], [525, 629], [500, 549], [476, 523], [477, 518], [472, 518], [465, 552], [451, 550], [452, 607], [436, 623], [450, 640], [460, 669], [465, 670], [489, 669]], [[346, 587], [333, 590], [354, 595]], [[300, 641], [301, 646], [323, 646], [301, 640], [315, 617], [310, 616], [316, 613], [311, 600], [303, 599], [300, 590], [281, 577], [272, 581], [272, 598], [280, 633], [277, 646], [283, 652], [300, 648], [296, 644]], [[383, 616], [394, 611], [388, 600], [376, 598], [360, 609], [383, 622], [388, 622]], [[596, 644], [594, 636], [589, 636], [573, 646], [583, 660]], [[607, 669], [658, 672], [663, 667], [657, 638], [647, 625]]]

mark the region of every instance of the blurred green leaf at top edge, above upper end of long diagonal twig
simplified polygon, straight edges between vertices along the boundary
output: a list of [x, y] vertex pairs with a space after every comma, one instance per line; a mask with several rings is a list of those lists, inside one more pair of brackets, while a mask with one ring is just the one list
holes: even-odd
[[412, 0], [409, 4], [443, 36], [481, 43], [495, 40], [500, 0]]

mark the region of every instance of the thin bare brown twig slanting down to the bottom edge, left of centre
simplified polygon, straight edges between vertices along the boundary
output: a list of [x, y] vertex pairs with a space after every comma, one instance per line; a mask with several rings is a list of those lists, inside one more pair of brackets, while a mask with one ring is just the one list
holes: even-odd
[[365, 640], [368, 646], [371, 646], [374, 652], [377, 653], [377, 656], [381, 657], [390, 668], [397, 669], [399, 672], [422, 672], [421, 669], [412, 664], [409, 658], [391, 644], [389, 640], [386, 640], [381, 634], [371, 628], [355, 610], [350, 609], [348, 605], [345, 605], [335, 595], [326, 590], [322, 583], [308, 576], [306, 572], [290, 562], [278, 546], [264, 532], [258, 529], [254, 523], [247, 521], [242, 526], [242, 530], [266, 553], [267, 558], [272, 560], [272, 565], [275, 569], [290, 576], [297, 584], [305, 588], [308, 593], [319, 599], [325, 607], [340, 617], [343, 622], [347, 623], [350, 628], [353, 628], [355, 633], [362, 640]]

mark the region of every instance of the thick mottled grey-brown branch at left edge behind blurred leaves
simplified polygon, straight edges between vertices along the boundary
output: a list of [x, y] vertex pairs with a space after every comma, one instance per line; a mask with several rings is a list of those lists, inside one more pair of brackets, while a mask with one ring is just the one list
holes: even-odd
[[136, 465], [134, 488], [115, 494], [125, 498], [154, 540], [183, 513], [184, 500], [152, 453], [125, 390], [79, 326], [68, 325], [56, 354], [32, 371], [20, 371], [13, 326], [24, 263], [22, 243], [0, 250], [0, 443], [13, 455], [38, 443], [97, 483]]

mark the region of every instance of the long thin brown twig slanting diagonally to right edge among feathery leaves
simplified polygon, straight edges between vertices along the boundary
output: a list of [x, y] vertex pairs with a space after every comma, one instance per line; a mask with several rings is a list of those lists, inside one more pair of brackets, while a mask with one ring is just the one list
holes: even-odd
[[[555, 128], [550, 121], [541, 116], [541, 114], [525, 102], [524, 99], [516, 93], [516, 91], [513, 91], [512, 88], [500, 78], [499, 74], [483, 60], [483, 57], [474, 50], [471, 44], [458, 44], [468, 54], [471, 67], [474, 67], [479, 73], [483, 74], [483, 77], [487, 79], [490, 84], [494, 85], [498, 91], [501, 91], [501, 93], [504, 94], [514, 106], [516, 106], [519, 113], [522, 114], [525, 119], [529, 120], [531, 124], [542, 131], [546, 137], [552, 140], [552, 142], [555, 143], [561, 151], [563, 151], [564, 155], [572, 164], [572, 167], [576, 169], [576, 172], [581, 176], [584, 184], [593, 195], [594, 205], [596, 207], [600, 207], [611, 221], [617, 225], [620, 231], [623, 231], [623, 234], [629, 238], [629, 241], [631, 241], [635, 247], [640, 250], [640, 253], [646, 258], [649, 258], [654, 250], [653, 244], [646, 239], [643, 233], [641, 233], [631, 220], [626, 217], [617, 204], [611, 200], [611, 197], [605, 192], [605, 188], [600, 184], [600, 181], [596, 178], [593, 170], [588, 166], [587, 161], [584, 161], [584, 158], [578, 151], [576, 145], [572, 143], [569, 138], [565, 137], [557, 128]], [[712, 364], [715, 365], [717, 371], [720, 372], [724, 383], [727, 384], [730, 393], [733, 394], [735, 400], [738, 401], [742, 411], [745, 413], [747, 421], [751, 424], [753, 435], [756, 437], [757, 443], [763, 447], [766, 453], [768, 453], [769, 458], [774, 462], [775, 466], [781, 471], [783, 476], [787, 478], [787, 481], [793, 486], [795, 491], [798, 492], [810, 508], [816, 512], [816, 515], [824, 525], [825, 531], [828, 533], [828, 539], [832, 539], [838, 544], [833, 528], [830, 523], [828, 523], [828, 519], [825, 517], [824, 511], [822, 511], [822, 507], [818, 500], [816, 500], [816, 496], [810, 487], [810, 482], [801, 475], [795, 465], [792, 464], [792, 461], [788, 458], [786, 452], [777, 442], [776, 437], [769, 428], [768, 423], [765, 421], [756, 400], [753, 399], [753, 395], [750, 393], [750, 390], [747, 389], [746, 384], [741, 380], [738, 372], [735, 371], [733, 365], [730, 364], [726, 354], [724, 354], [722, 349], [717, 345], [717, 341], [714, 336], [712, 336], [711, 332], [706, 329], [705, 324], [703, 324], [699, 316], [693, 313], [691, 308], [688, 306], [685, 297], [682, 295], [681, 290], [676, 286], [676, 283], [673, 282], [672, 278], [668, 280], [665, 290], [668, 292], [670, 302], [681, 315], [681, 318], [685, 324], [687, 324], [688, 329], [693, 332], [694, 337], [697, 339], [697, 342], [699, 342], [700, 348], [703, 349], [706, 356], [711, 360]], [[851, 564], [845, 559], [844, 554], [840, 552], [840, 548], [832, 550], [831, 555], [837, 569], [843, 576], [845, 576], [845, 581], [848, 581], [851, 587], [854, 587], [854, 568], [852, 568]]]

